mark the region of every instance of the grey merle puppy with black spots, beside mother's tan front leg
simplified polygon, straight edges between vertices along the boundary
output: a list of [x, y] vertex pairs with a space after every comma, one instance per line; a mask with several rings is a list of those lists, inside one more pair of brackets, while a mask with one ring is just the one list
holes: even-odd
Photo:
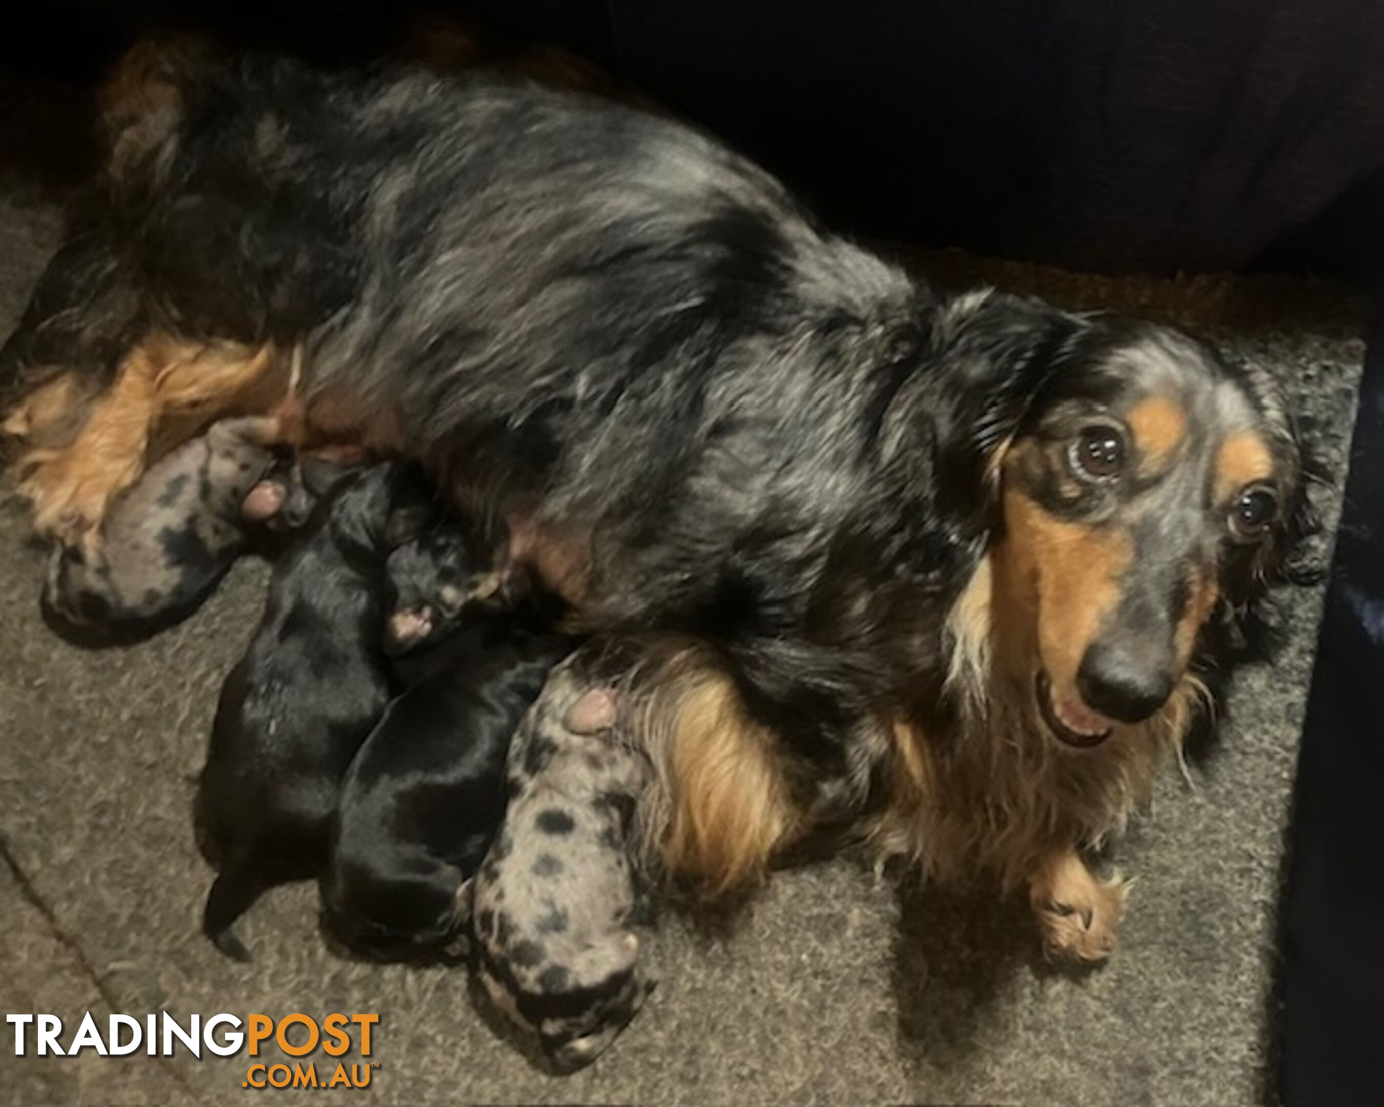
[[563, 1071], [590, 1064], [652, 987], [626, 845], [648, 765], [621, 744], [612, 692], [554, 670], [509, 750], [504, 829], [475, 879], [480, 981]]

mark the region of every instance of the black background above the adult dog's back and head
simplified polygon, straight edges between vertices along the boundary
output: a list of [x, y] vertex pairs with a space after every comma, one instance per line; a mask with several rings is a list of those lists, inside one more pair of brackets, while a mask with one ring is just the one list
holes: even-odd
[[[89, 0], [25, 10], [0, 64], [89, 84], [155, 26], [322, 58], [408, 4]], [[1095, 271], [1370, 280], [1384, 241], [1372, 0], [489, 0], [778, 170], [836, 226]]]

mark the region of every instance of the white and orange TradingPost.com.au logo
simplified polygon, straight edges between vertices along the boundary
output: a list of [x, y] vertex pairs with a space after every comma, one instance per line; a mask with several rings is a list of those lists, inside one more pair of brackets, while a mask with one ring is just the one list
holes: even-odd
[[[172, 1057], [180, 1049], [194, 1057], [202, 1050], [217, 1057], [234, 1057], [242, 1050], [251, 1057], [241, 1088], [368, 1088], [372, 1072], [372, 1031], [378, 1014], [328, 1014], [318, 1021], [307, 1014], [213, 1014], [203, 1020], [194, 1014], [184, 1027], [167, 1012], [147, 1014], [141, 1023], [131, 1014], [111, 1014], [105, 1034], [95, 1016], [87, 1012], [82, 1024], [65, 1035], [55, 1014], [7, 1014], [15, 1057], [75, 1057], [90, 1049], [101, 1057], [125, 1057], [143, 1052], [149, 1057]], [[260, 1046], [274, 1041], [292, 1064], [256, 1061]], [[357, 1049], [360, 1060], [338, 1060]], [[317, 1050], [324, 1056], [313, 1057]]]

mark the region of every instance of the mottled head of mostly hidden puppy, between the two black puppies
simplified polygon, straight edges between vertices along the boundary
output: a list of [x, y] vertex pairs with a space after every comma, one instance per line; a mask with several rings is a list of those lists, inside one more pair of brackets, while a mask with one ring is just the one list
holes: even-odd
[[509, 598], [500, 571], [472, 552], [457, 527], [421, 534], [389, 555], [385, 567], [385, 648], [417, 649], [455, 630], [465, 613], [498, 607]]

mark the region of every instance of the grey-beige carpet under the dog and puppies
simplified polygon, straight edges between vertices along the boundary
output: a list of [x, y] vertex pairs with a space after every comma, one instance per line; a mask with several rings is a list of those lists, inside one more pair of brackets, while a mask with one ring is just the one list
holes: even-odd
[[[0, 328], [55, 241], [50, 206], [0, 203]], [[1283, 281], [1107, 281], [954, 255], [1064, 303], [1210, 327], [1275, 367], [1338, 477], [1363, 346], [1337, 289]], [[1334, 516], [1334, 497], [1322, 497]], [[662, 985], [592, 1068], [545, 1075], [441, 969], [349, 963], [314, 927], [314, 893], [284, 888], [245, 920], [256, 959], [197, 931], [209, 873], [190, 830], [220, 678], [257, 617], [266, 569], [242, 563], [183, 627], [83, 652], [39, 619], [42, 555], [0, 509], [0, 1007], [183, 1017], [379, 1014], [376, 1103], [1160, 1103], [1259, 1100], [1282, 836], [1320, 595], [1289, 596], [1272, 667], [1240, 674], [1219, 740], [1189, 779], [1169, 768], [1120, 844], [1138, 876], [1122, 948], [1103, 971], [1048, 970], [1021, 905], [876, 879], [853, 859], [778, 875], [729, 927], [670, 912]], [[180, 1052], [15, 1059], [15, 1104], [244, 1101], [248, 1059]], [[274, 1057], [270, 1057], [274, 1060]], [[318, 1068], [327, 1061], [322, 1053]], [[358, 1060], [347, 1057], [347, 1060]], [[280, 1092], [289, 1103], [303, 1092]]]

